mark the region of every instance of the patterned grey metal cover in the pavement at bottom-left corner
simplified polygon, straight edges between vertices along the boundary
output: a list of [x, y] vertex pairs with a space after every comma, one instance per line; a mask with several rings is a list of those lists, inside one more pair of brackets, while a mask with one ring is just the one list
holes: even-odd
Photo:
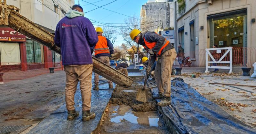
[[19, 132], [28, 128], [30, 125], [9, 125], [9, 126], [0, 126], [0, 134], [9, 134], [12, 132]]

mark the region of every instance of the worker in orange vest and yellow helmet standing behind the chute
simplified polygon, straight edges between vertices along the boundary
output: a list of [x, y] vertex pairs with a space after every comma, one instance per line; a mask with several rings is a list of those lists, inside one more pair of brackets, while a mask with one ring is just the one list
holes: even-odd
[[[114, 53], [114, 47], [111, 41], [102, 36], [103, 29], [101, 27], [95, 27], [98, 34], [99, 41], [94, 48], [95, 57], [101, 62], [110, 66], [109, 57]], [[112, 81], [108, 80], [108, 88], [113, 88]], [[93, 90], [99, 90], [99, 74], [94, 74], [94, 88]]]

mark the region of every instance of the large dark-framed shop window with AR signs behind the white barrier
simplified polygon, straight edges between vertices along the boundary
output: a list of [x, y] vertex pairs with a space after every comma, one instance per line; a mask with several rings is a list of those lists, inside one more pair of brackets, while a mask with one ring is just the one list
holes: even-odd
[[[224, 15], [223, 15], [224, 14]], [[247, 62], [247, 15], [246, 10], [231, 11], [208, 17], [210, 48], [233, 47], [233, 64]], [[224, 52], [222, 52], [224, 53]], [[228, 56], [224, 58], [228, 59]]]

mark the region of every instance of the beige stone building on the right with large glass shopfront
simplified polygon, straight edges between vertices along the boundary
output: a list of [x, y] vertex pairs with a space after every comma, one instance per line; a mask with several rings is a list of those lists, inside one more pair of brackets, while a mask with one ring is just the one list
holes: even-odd
[[174, 0], [175, 46], [184, 48], [193, 66], [205, 66], [205, 48], [214, 44], [233, 47], [233, 65], [251, 66], [256, 62], [254, 7], [255, 0]]

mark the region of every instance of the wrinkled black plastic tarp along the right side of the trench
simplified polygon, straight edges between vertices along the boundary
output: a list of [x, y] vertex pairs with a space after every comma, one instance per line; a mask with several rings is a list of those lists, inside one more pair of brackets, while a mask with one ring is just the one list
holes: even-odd
[[[162, 107], [162, 110], [180, 133], [256, 133], [256, 130], [204, 98], [183, 79], [173, 79], [171, 90], [171, 105]], [[156, 94], [157, 88], [153, 92]]]

